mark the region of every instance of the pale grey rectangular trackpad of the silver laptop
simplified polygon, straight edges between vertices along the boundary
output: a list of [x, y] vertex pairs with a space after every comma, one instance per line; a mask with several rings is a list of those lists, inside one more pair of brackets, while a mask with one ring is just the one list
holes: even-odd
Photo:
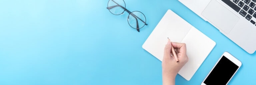
[[229, 33], [239, 20], [235, 14], [229, 11], [216, 0], [211, 0], [202, 12], [202, 15], [212, 24], [225, 33]]

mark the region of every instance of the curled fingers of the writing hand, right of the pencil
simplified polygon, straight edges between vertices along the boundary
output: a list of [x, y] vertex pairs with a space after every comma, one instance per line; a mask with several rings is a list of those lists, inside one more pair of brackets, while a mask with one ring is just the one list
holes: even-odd
[[174, 48], [178, 48], [178, 51], [180, 53], [186, 53], [187, 52], [187, 48], [186, 48], [186, 44], [185, 43], [172, 42], [171, 44], [172, 44], [172, 46]]

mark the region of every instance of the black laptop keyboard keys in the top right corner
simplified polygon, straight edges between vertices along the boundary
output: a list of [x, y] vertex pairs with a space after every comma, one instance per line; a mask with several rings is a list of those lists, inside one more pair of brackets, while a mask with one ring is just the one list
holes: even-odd
[[[255, 25], [252, 17], [256, 18], [256, 0], [221, 0], [229, 7], [245, 17], [248, 21]], [[256, 26], [256, 25], [255, 25]]]

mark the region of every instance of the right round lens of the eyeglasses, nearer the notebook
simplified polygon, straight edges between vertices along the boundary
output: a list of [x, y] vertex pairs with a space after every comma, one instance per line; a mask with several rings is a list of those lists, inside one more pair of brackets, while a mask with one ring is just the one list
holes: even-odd
[[[128, 23], [134, 29], [140, 29], [146, 24], [146, 17], [139, 11], [134, 11], [128, 16]], [[137, 27], [138, 26], [138, 27]]]

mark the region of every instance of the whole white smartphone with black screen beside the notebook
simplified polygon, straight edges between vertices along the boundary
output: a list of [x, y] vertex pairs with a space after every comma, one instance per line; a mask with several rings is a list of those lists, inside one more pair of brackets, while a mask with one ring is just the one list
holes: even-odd
[[201, 85], [227, 85], [242, 63], [224, 52]]

